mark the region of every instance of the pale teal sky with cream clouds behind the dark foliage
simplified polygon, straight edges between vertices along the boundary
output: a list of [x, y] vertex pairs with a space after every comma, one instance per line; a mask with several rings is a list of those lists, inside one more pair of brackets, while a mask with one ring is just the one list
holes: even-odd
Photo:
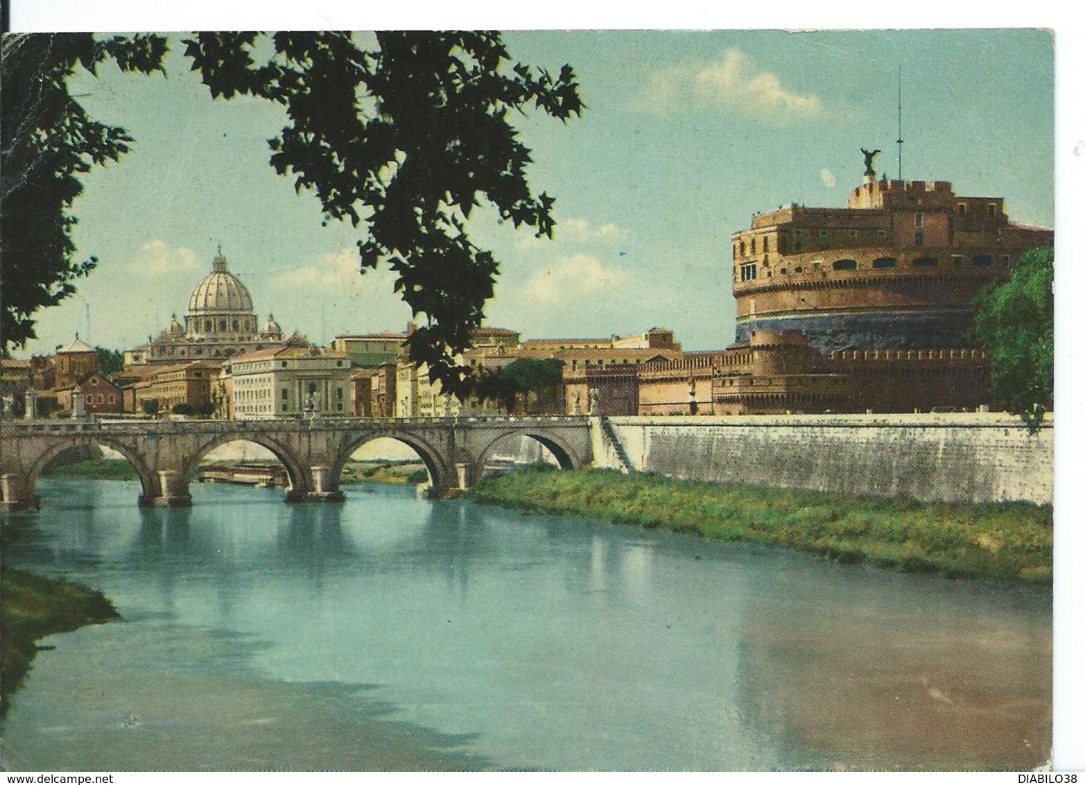
[[[1054, 39], [1043, 29], [608, 30], [507, 33], [511, 55], [576, 71], [584, 114], [516, 117], [536, 191], [556, 197], [552, 241], [472, 218], [500, 261], [486, 324], [524, 338], [675, 330], [686, 349], [735, 334], [730, 235], [781, 204], [844, 206], [859, 148], [897, 170], [902, 71], [906, 179], [1001, 195], [1012, 219], [1054, 226]], [[258, 318], [316, 342], [401, 330], [386, 270], [359, 275], [347, 225], [268, 165], [281, 110], [214, 101], [173, 40], [167, 77], [104, 68], [73, 85], [85, 107], [135, 137], [85, 178], [74, 240], [98, 268], [40, 312], [46, 353], [78, 331], [125, 349], [157, 334], [221, 244]], [[89, 318], [88, 318], [89, 316]]]

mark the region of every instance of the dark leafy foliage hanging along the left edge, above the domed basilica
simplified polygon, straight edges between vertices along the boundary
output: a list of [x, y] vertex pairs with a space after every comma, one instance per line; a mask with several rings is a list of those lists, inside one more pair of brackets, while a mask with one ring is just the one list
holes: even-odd
[[68, 92], [79, 69], [97, 73], [108, 60], [123, 71], [162, 69], [161, 36], [90, 34], [4, 36], [0, 49], [0, 350], [35, 338], [34, 314], [75, 292], [94, 256], [72, 242], [72, 202], [79, 177], [116, 161], [132, 141], [124, 128], [89, 117]]

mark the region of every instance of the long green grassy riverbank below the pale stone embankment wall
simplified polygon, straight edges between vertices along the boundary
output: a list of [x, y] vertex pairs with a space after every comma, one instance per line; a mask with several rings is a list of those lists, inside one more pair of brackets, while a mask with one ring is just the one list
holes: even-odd
[[784, 546], [909, 572], [1051, 581], [1049, 505], [926, 503], [551, 467], [486, 478], [469, 495], [485, 504]]

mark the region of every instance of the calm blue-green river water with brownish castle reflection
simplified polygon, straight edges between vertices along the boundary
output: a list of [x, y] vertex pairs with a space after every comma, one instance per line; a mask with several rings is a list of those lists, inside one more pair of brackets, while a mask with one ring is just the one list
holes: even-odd
[[412, 489], [42, 479], [5, 564], [123, 619], [44, 643], [22, 770], [1025, 769], [1050, 592]]

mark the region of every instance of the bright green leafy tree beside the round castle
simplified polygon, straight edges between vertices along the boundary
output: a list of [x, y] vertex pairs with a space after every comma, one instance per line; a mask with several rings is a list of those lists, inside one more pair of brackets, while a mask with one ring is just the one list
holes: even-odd
[[1035, 430], [1055, 396], [1055, 252], [1027, 251], [1008, 281], [975, 297], [974, 335], [991, 362], [990, 392]]

